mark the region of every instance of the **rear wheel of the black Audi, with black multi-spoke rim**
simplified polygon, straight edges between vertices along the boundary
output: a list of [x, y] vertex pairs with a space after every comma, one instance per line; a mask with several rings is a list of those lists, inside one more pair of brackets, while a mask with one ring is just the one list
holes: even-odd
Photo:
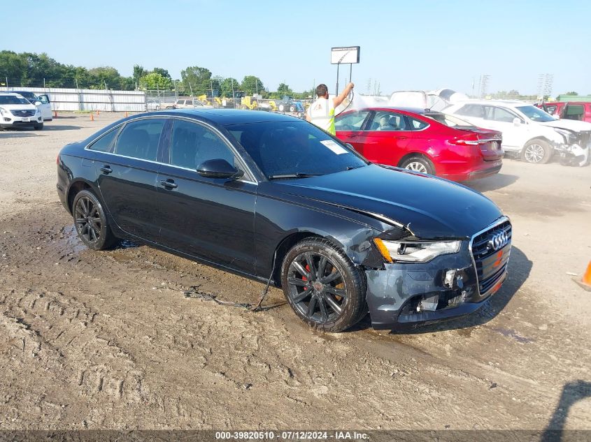
[[110, 249], [117, 241], [94, 193], [87, 190], [78, 192], [72, 204], [72, 214], [78, 237], [89, 249]]

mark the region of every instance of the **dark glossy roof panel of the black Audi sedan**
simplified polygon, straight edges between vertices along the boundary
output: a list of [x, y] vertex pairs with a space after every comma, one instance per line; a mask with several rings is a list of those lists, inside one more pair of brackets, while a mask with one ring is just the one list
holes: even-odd
[[[151, 115], [178, 115], [179, 117], [196, 117], [212, 121], [223, 126], [229, 124], [262, 123], [266, 121], [302, 121], [290, 115], [263, 110], [238, 110], [238, 109], [175, 109], [150, 112]], [[135, 115], [137, 117], [137, 115]]]

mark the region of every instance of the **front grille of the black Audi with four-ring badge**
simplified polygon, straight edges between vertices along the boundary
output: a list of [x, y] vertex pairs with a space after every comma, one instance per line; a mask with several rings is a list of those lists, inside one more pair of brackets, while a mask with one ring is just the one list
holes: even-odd
[[[506, 243], [498, 244], [494, 249], [494, 238], [506, 235]], [[476, 265], [478, 291], [480, 297], [486, 297], [496, 291], [507, 272], [507, 263], [511, 254], [511, 222], [508, 220], [479, 233], [471, 241], [472, 256]]]

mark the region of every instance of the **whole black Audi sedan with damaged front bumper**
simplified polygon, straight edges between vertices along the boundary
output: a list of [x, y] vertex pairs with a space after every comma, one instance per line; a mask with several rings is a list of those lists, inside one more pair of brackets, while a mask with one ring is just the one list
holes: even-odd
[[119, 239], [283, 288], [312, 327], [469, 314], [503, 283], [511, 223], [465, 186], [366, 161], [316, 126], [250, 110], [134, 115], [57, 158], [90, 249]]

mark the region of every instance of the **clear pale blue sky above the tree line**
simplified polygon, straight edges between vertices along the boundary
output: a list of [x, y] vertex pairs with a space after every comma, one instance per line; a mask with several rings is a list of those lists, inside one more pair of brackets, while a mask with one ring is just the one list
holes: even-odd
[[[376, 82], [383, 94], [448, 87], [536, 94], [540, 74], [553, 75], [553, 95], [591, 94], [591, 1], [39, 1], [34, 24], [19, 1], [1, 7], [0, 50], [45, 52], [64, 64], [187, 66], [213, 75], [259, 77], [294, 91], [323, 82], [336, 87], [331, 47], [360, 46], [355, 90]], [[23, 27], [26, 24], [26, 27]], [[340, 85], [349, 77], [341, 65]]]

